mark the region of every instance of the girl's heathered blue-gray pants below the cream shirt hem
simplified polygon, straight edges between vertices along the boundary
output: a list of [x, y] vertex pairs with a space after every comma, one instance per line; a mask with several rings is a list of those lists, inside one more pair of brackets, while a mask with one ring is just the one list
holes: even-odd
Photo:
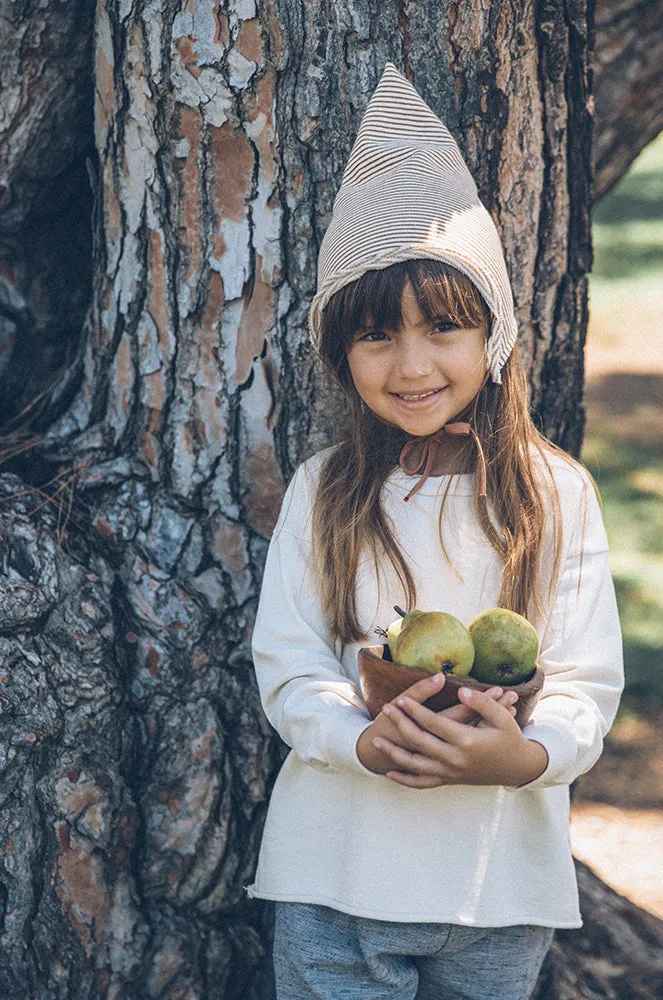
[[278, 1000], [528, 1000], [550, 927], [465, 927], [277, 903]]

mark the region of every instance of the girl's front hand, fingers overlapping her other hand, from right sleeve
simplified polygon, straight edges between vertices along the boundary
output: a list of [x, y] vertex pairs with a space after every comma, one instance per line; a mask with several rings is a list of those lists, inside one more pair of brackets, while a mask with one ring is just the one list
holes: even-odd
[[398, 736], [377, 735], [374, 746], [392, 762], [388, 778], [410, 788], [517, 786], [543, 774], [545, 748], [523, 736], [508, 708], [471, 688], [461, 688], [459, 698], [467, 711], [482, 717], [478, 726], [431, 712], [409, 692], [385, 705]]

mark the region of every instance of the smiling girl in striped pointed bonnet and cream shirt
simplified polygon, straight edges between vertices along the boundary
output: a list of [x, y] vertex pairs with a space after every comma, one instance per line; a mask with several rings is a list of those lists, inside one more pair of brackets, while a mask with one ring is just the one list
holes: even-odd
[[[314, 344], [349, 430], [301, 466], [270, 545], [253, 649], [292, 748], [253, 896], [276, 900], [280, 1000], [525, 1000], [581, 924], [570, 782], [617, 708], [621, 643], [591, 481], [529, 417], [504, 258], [444, 125], [388, 65], [319, 259]], [[546, 673], [442, 674], [372, 721], [357, 653], [394, 605], [527, 615]]]

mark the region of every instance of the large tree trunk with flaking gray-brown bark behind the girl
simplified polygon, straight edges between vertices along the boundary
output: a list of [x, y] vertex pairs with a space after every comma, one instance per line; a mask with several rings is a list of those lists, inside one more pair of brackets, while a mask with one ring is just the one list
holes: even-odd
[[[283, 748], [249, 640], [284, 484], [343, 418], [306, 331], [342, 167], [392, 60], [504, 234], [536, 412], [577, 452], [589, 43], [562, 0], [99, 0], [80, 384], [14, 466], [60, 478], [2, 479], [0, 996], [272, 995], [244, 886]], [[547, 1000], [589, 938], [560, 940]]]

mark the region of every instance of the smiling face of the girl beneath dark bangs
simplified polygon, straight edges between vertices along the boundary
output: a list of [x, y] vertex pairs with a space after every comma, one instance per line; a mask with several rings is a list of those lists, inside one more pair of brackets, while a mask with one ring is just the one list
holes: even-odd
[[355, 388], [376, 416], [413, 437], [433, 434], [472, 402], [486, 377], [486, 327], [431, 323], [408, 281], [399, 330], [359, 330], [347, 352]]

